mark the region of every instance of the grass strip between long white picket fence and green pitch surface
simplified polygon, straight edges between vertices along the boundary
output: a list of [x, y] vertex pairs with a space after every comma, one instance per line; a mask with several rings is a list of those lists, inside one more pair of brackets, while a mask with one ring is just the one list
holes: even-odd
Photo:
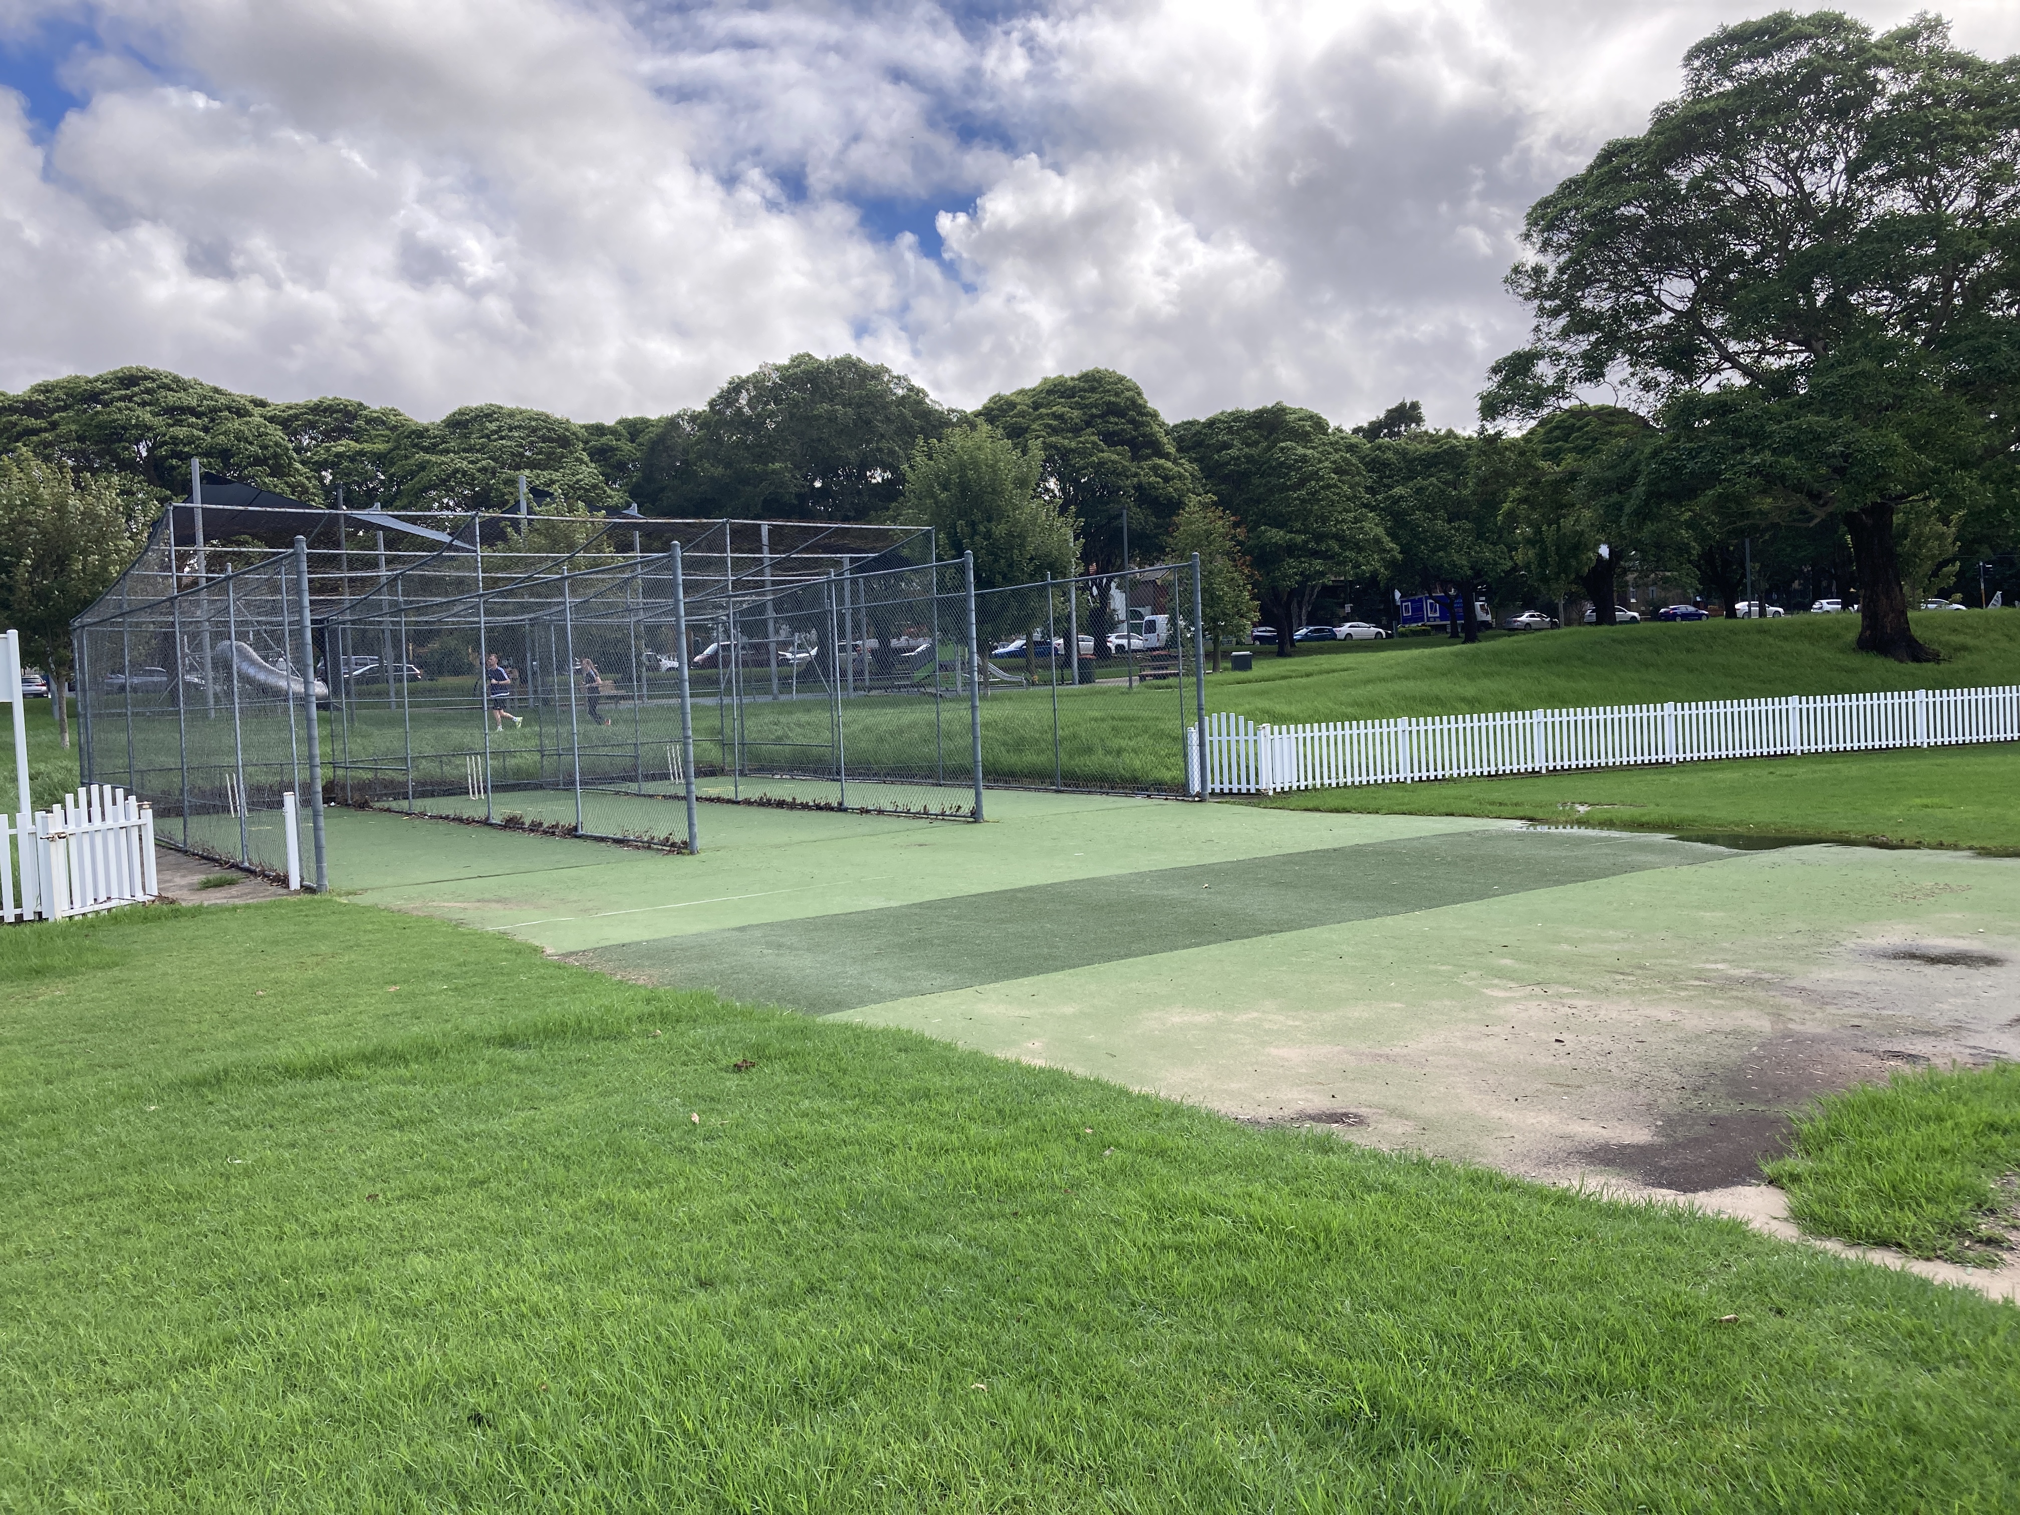
[[2020, 743], [1608, 768], [1535, 778], [1366, 784], [1256, 804], [1507, 816], [1608, 830], [1885, 840], [2020, 854]]

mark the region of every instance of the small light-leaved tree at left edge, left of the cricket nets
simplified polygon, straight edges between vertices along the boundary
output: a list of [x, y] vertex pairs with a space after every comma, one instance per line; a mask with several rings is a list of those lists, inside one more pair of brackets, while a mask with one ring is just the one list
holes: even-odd
[[48, 673], [71, 745], [71, 620], [133, 562], [156, 505], [129, 479], [73, 475], [28, 452], [0, 454], [0, 620]]

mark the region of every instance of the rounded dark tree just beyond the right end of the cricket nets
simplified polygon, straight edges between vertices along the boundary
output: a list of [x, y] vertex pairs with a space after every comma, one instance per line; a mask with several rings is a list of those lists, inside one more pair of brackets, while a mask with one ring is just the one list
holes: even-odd
[[1325, 416], [1273, 404], [1182, 420], [1172, 434], [1242, 523], [1279, 656], [1291, 656], [1291, 636], [1319, 590], [1394, 562], [1396, 547], [1368, 509], [1355, 442]]

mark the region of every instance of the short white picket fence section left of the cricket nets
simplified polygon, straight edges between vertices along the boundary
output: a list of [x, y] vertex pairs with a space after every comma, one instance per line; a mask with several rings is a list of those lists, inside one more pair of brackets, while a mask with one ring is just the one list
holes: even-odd
[[93, 784], [53, 810], [0, 816], [0, 921], [61, 921], [156, 895], [154, 806], [125, 790]]

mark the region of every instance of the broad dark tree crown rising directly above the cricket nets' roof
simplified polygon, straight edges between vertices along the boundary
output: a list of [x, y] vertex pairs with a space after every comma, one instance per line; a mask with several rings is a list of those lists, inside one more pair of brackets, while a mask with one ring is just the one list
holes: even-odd
[[919, 438], [953, 416], [861, 358], [798, 354], [669, 416], [640, 448], [632, 499], [654, 515], [881, 521]]

